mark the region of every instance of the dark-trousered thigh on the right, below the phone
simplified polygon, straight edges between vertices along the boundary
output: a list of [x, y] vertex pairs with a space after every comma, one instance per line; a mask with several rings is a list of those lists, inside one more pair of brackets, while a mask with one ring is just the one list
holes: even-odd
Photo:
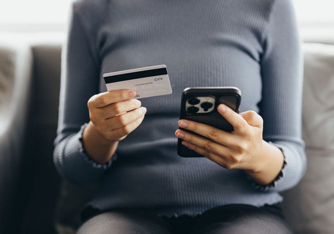
[[[197, 219], [197, 218], [196, 218]], [[278, 206], [228, 205], [195, 220], [192, 234], [292, 234]]]

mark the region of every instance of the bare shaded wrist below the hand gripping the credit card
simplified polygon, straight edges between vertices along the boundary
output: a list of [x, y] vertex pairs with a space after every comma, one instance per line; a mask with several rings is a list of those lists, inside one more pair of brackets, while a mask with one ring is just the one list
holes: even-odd
[[82, 134], [83, 144], [88, 155], [97, 163], [106, 163], [115, 154], [118, 141], [109, 141], [100, 134], [90, 121]]

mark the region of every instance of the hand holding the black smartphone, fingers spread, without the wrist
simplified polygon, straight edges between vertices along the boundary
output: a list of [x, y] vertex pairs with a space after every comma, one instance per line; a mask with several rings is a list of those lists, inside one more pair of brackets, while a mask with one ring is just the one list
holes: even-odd
[[[232, 132], [181, 119], [179, 127], [201, 136], [178, 129], [176, 137], [182, 144], [227, 169], [243, 169], [258, 172], [263, 168], [261, 158], [265, 142], [262, 138], [263, 119], [254, 111], [237, 114], [224, 104], [218, 112], [233, 126]], [[267, 143], [268, 144], [268, 143]]]

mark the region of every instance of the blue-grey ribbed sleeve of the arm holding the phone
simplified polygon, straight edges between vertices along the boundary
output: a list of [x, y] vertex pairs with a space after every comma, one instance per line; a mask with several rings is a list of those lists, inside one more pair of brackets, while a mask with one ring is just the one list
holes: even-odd
[[291, 0], [276, 0], [269, 17], [261, 61], [263, 138], [284, 154], [279, 177], [265, 189], [295, 186], [306, 170], [302, 135], [303, 58]]

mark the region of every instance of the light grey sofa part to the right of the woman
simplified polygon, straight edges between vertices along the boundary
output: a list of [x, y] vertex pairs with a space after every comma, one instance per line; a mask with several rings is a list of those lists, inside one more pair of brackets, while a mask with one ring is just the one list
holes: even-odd
[[304, 44], [303, 139], [308, 168], [283, 193], [287, 221], [296, 233], [334, 230], [334, 45]]

